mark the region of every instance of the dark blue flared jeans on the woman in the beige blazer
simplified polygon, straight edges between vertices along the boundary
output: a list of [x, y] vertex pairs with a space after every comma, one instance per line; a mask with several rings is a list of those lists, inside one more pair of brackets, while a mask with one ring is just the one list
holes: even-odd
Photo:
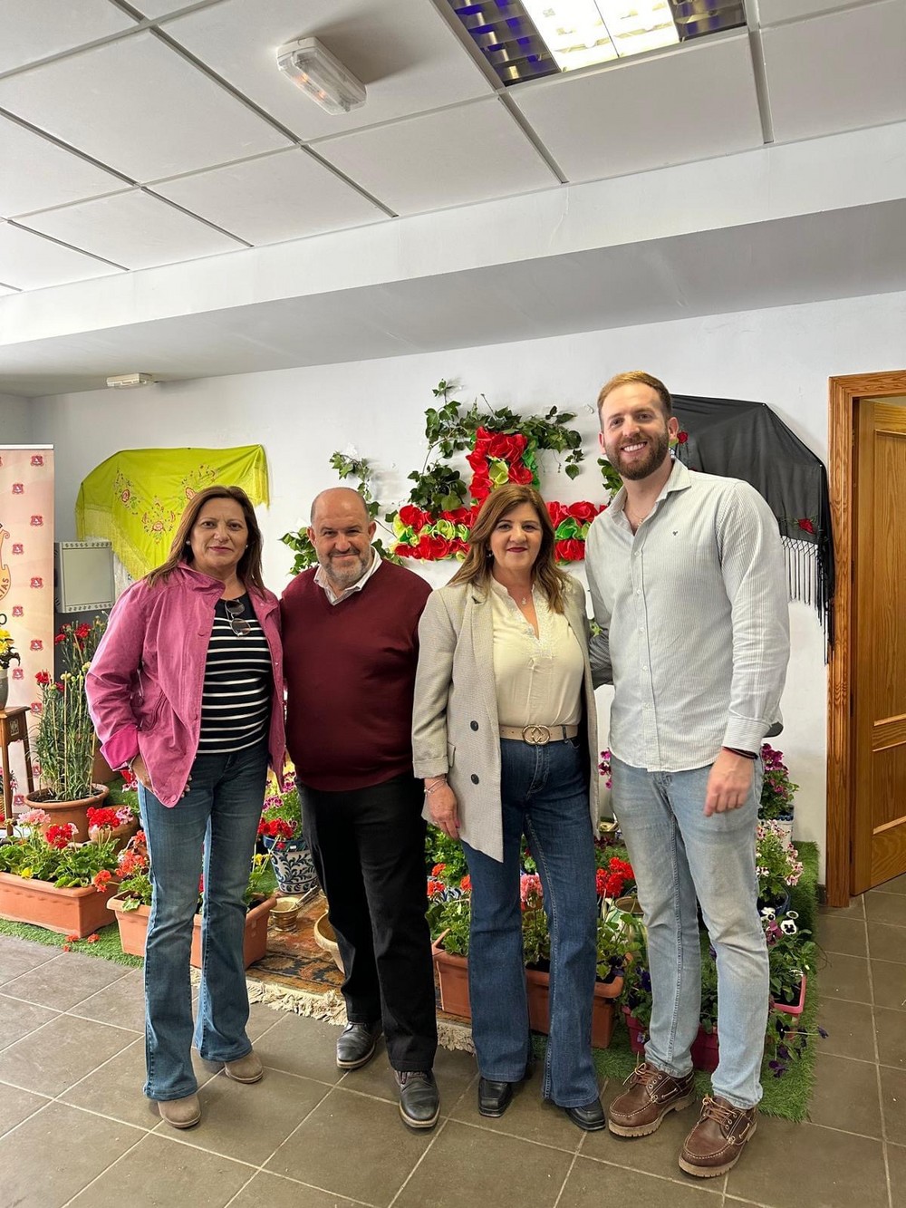
[[469, 994], [482, 1076], [517, 1082], [530, 1056], [522, 951], [519, 847], [525, 832], [551, 933], [551, 1030], [544, 1098], [579, 1108], [598, 1094], [592, 1064], [597, 963], [594, 843], [588, 765], [573, 741], [501, 739], [504, 859], [463, 843], [472, 881]]

